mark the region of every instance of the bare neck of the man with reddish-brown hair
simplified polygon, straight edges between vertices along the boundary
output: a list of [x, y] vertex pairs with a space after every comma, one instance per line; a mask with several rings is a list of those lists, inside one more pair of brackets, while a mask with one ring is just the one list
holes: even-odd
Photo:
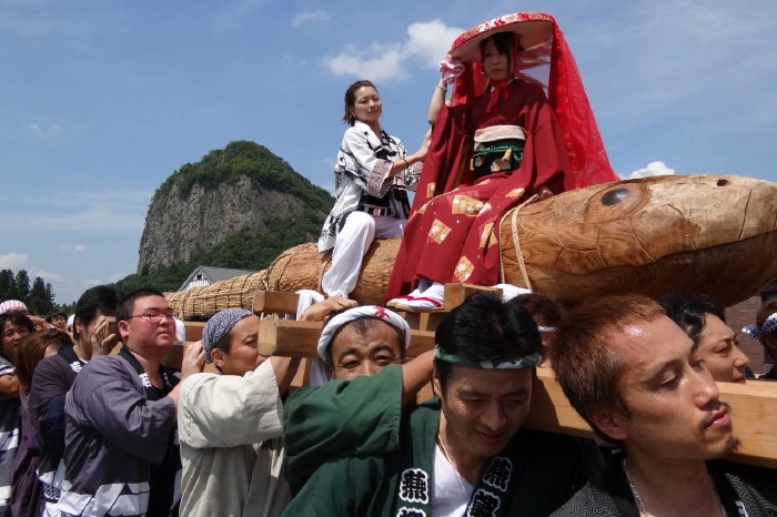
[[719, 498], [704, 460], [667, 459], [633, 450], [624, 468], [637, 506], [642, 499], [649, 516], [720, 515]]

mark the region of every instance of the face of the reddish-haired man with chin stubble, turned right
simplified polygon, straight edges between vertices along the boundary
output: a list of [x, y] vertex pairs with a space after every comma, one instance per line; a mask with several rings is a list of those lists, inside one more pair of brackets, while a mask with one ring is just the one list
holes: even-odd
[[603, 428], [609, 436], [629, 452], [675, 459], [706, 460], [736, 447], [728, 406], [693, 342], [672, 320], [629, 325], [612, 334], [608, 346], [627, 365], [618, 385], [630, 412], [628, 418], [613, 416], [614, 426]]

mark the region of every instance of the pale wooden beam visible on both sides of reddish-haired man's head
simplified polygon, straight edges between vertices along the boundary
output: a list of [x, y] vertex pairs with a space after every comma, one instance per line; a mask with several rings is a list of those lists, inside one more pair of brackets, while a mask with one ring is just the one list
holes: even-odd
[[[777, 468], [777, 383], [717, 383], [720, 398], [731, 406], [734, 430], [741, 446], [728, 459]], [[553, 371], [537, 368], [532, 410], [526, 426], [553, 433], [594, 437], [556, 383]]]

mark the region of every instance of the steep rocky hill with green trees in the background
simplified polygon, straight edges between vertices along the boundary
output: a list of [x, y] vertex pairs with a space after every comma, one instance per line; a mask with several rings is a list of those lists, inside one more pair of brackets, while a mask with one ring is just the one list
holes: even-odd
[[266, 148], [232, 142], [160, 185], [138, 273], [119, 285], [175, 291], [198, 265], [262, 270], [282, 251], [316, 240], [333, 202]]

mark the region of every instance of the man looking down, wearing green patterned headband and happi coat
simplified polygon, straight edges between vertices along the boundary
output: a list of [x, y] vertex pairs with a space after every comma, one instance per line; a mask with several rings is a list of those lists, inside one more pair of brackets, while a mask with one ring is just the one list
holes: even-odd
[[471, 296], [435, 342], [437, 398], [405, 412], [398, 449], [325, 464], [284, 515], [544, 517], [598, 470], [592, 443], [522, 428], [542, 341], [517, 303]]

